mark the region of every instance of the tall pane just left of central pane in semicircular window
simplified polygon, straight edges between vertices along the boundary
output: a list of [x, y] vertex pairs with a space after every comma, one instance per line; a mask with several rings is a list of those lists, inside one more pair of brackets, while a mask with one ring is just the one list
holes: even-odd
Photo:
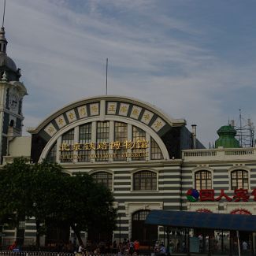
[[[86, 144], [91, 143], [91, 123], [80, 125], [79, 128], [79, 143]], [[78, 161], [89, 161], [89, 155], [91, 150], [85, 150], [83, 147], [82, 150], [78, 151]]]

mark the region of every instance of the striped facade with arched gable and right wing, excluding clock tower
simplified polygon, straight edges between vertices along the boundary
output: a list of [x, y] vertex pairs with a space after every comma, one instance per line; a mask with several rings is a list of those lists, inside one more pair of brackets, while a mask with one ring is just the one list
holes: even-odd
[[[118, 212], [117, 242], [131, 239], [139, 212], [238, 209], [255, 214], [254, 149], [191, 149], [193, 136], [185, 124], [134, 98], [85, 98], [29, 131], [31, 157], [33, 162], [56, 161], [69, 175], [88, 173], [109, 187]], [[191, 188], [198, 193], [188, 202]], [[25, 229], [24, 236], [31, 230]], [[158, 239], [163, 237], [159, 228]]]

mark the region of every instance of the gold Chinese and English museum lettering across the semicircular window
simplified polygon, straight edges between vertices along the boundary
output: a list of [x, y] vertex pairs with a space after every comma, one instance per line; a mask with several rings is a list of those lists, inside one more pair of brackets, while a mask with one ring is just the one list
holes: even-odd
[[[83, 155], [74, 154], [81, 151], [90, 151], [89, 159], [107, 160], [109, 158], [146, 158], [149, 156], [148, 148], [149, 143], [146, 140], [125, 140], [124, 142], [113, 141], [109, 143], [62, 143], [59, 151], [61, 152], [60, 159], [65, 160], [82, 160]], [[91, 152], [91, 150], [93, 151]], [[108, 150], [114, 151], [109, 153]]]

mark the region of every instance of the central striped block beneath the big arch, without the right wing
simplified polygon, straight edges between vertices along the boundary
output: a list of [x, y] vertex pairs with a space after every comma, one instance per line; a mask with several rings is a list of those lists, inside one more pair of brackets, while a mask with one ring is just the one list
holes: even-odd
[[86, 98], [29, 131], [32, 161], [58, 162], [66, 173], [88, 173], [109, 187], [121, 218], [113, 239], [130, 239], [135, 212], [181, 210], [180, 183], [173, 184], [180, 167], [173, 163], [192, 145], [185, 124], [134, 98]]

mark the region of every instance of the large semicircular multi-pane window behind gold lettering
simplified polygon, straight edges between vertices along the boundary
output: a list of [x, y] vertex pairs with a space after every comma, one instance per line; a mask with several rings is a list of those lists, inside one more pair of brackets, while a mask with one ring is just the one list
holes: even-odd
[[59, 139], [60, 145], [57, 143], [57, 147], [50, 147], [47, 152], [48, 161], [86, 163], [163, 159], [158, 140], [155, 141], [143, 129], [125, 121], [80, 124], [62, 134]]

